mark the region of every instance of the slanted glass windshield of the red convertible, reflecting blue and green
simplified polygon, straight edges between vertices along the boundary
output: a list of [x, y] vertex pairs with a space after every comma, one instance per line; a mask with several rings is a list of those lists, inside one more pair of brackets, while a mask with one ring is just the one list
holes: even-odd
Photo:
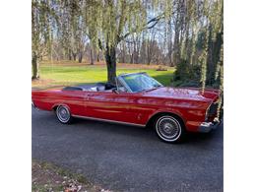
[[132, 92], [143, 92], [162, 87], [155, 79], [147, 74], [130, 74], [121, 77]]

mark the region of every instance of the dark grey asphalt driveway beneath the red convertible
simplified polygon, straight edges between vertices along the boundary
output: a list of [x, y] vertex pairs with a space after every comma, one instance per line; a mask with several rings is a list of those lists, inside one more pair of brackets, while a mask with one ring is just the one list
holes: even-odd
[[223, 191], [223, 125], [180, 145], [149, 129], [78, 119], [62, 125], [32, 108], [32, 158], [118, 191]]

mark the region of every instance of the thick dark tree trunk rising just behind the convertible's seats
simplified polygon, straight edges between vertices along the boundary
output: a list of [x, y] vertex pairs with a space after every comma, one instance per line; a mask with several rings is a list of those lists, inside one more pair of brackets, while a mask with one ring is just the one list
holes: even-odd
[[111, 84], [115, 84], [116, 78], [116, 52], [115, 47], [106, 47], [105, 62], [107, 67], [107, 81]]

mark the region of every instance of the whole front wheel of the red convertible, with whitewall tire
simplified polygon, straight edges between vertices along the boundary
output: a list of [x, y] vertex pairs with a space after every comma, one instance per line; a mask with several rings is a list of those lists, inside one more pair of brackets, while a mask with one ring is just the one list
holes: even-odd
[[155, 129], [160, 139], [167, 143], [181, 142], [185, 135], [181, 120], [170, 115], [158, 117], [155, 121]]

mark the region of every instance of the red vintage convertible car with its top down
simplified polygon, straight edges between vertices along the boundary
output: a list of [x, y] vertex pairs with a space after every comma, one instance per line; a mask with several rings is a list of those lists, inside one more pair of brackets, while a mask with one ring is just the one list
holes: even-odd
[[151, 126], [161, 140], [179, 142], [186, 132], [209, 132], [220, 124], [217, 90], [163, 87], [146, 73], [119, 75], [116, 85], [98, 83], [33, 90], [32, 105], [52, 110], [61, 123], [89, 118]]

